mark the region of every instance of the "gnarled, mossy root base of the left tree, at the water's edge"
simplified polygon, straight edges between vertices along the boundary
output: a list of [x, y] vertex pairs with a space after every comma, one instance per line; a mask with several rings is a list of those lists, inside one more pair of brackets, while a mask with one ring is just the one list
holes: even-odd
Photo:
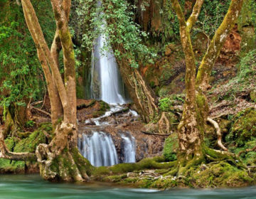
[[68, 136], [72, 124], [62, 123], [56, 128], [56, 136], [50, 144], [39, 144], [36, 156], [40, 173], [47, 181], [87, 181], [92, 165], [78, 151], [77, 146], [70, 146]]

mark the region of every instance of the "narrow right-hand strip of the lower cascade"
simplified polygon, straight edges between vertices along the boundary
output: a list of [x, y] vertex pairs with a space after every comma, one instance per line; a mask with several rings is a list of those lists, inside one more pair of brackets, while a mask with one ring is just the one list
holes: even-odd
[[124, 163], [133, 163], [136, 161], [135, 159], [135, 139], [134, 136], [127, 133], [121, 134], [122, 142], [123, 142], [123, 154], [124, 154]]

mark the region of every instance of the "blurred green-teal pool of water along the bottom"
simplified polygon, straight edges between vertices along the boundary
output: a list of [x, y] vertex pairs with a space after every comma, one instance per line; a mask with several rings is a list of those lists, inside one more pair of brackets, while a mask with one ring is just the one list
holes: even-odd
[[0, 175], [0, 198], [88, 198], [88, 199], [256, 199], [256, 187], [240, 189], [171, 189], [151, 190], [114, 188], [99, 184], [48, 183], [38, 175]]

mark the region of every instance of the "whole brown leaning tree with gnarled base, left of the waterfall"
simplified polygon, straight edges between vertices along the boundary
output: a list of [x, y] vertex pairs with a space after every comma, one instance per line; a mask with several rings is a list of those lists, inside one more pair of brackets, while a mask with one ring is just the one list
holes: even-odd
[[[63, 121], [55, 127], [54, 137], [50, 144], [40, 144], [36, 156], [40, 165], [41, 176], [48, 181], [84, 181], [88, 179], [90, 162], [78, 151], [78, 127], [76, 119], [75, 93], [75, 55], [68, 28], [70, 0], [52, 0], [55, 21], [58, 29], [61, 47], [63, 49], [64, 82], [58, 69], [57, 58], [50, 53], [43, 37], [40, 24], [31, 1], [22, 0], [23, 12], [33, 41], [38, 50], [38, 58], [48, 82], [48, 90], [54, 89], [54, 84], [63, 108]], [[54, 80], [54, 82], [53, 82]], [[56, 102], [50, 95], [51, 102]], [[52, 106], [54, 104], [51, 103]]]

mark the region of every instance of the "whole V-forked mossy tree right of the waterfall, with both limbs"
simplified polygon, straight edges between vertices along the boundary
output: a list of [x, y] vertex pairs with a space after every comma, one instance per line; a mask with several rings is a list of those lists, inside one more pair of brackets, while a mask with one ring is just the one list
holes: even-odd
[[[178, 168], [174, 171], [178, 172], [178, 174], [183, 174], [186, 168], [201, 163], [207, 156], [214, 156], [214, 158], [223, 156], [223, 152], [220, 153], [213, 151], [213, 149], [208, 149], [203, 141], [204, 127], [208, 117], [208, 103], [204, 92], [207, 88], [210, 72], [220, 53], [220, 48], [222, 48], [225, 39], [238, 18], [242, 8], [242, 0], [231, 1], [228, 14], [216, 31], [213, 41], [211, 41], [208, 51], [202, 60], [197, 78], [196, 60], [190, 32], [201, 11], [203, 0], [196, 1], [192, 14], [187, 21], [178, 0], [171, 0], [171, 4], [178, 16], [181, 45], [186, 59], [186, 101], [183, 107], [182, 119], [178, 125]], [[231, 157], [230, 154], [225, 155]]]

